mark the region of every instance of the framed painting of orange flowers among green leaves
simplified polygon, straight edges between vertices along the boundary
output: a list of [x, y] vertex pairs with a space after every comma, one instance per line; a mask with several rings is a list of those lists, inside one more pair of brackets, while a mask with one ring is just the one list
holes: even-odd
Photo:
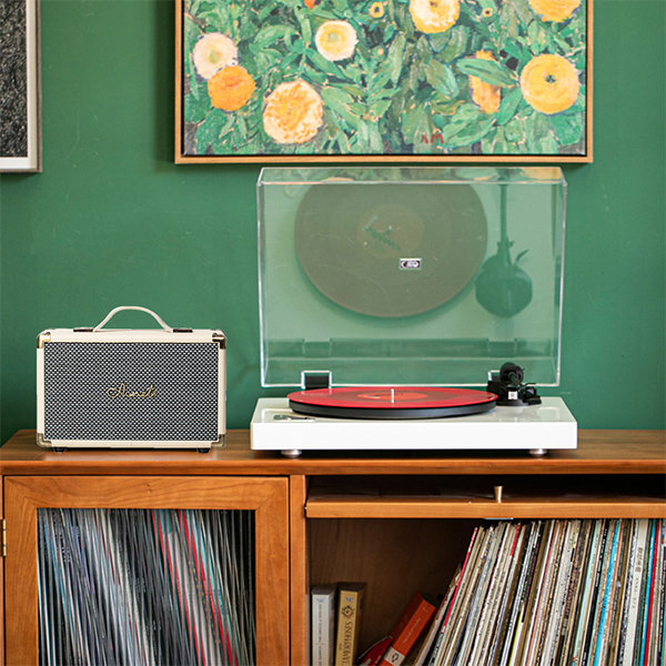
[[591, 162], [592, 0], [176, 0], [175, 161]]

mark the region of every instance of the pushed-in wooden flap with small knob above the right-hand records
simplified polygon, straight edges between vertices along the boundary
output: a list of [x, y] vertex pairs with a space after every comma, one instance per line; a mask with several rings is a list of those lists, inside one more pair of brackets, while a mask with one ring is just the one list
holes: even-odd
[[[665, 477], [321, 477], [307, 518], [656, 518]], [[492, 485], [492, 484], [497, 484]]]

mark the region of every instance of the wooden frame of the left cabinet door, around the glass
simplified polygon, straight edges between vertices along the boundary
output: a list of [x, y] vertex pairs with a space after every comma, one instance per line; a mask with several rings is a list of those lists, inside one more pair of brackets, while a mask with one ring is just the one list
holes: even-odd
[[36, 664], [37, 508], [224, 508], [255, 512], [256, 653], [289, 663], [289, 504], [284, 478], [9, 477], [6, 649], [9, 664]]

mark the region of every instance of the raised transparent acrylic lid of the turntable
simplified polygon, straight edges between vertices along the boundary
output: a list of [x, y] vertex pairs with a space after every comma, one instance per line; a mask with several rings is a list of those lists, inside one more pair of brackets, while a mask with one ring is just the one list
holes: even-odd
[[559, 381], [559, 169], [264, 169], [264, 386]]

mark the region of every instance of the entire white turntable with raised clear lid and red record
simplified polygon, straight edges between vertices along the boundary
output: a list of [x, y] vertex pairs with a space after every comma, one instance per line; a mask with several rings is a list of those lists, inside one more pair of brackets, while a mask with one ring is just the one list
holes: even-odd
[[252, 448], [575, 448], [536, 390], [559, 383], [565, 193], [551, 168], [263, 169], [261, 381], [289, 395], [259, 400]]

